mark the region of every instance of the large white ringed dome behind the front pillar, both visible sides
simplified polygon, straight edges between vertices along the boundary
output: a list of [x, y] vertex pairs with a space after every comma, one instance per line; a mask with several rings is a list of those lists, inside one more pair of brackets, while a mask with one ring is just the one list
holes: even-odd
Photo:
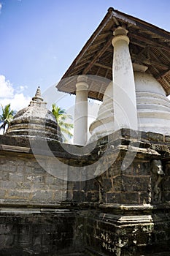
[[[170, 101], [161, 84], [144, 70], [134, 72], [134, 81], [138, 130], [170, 135]], [[111, 82], [104, 92], [98, 117], [90, 124], [90, 141], [109, 135], [119, 128], [114, 119], [113, 98]]]

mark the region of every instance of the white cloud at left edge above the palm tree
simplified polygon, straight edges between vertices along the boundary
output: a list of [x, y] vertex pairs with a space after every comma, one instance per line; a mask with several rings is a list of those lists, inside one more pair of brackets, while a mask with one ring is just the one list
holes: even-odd
[[16, 111], [27, 107], [31, 97], [23, 94], [24, 89], [26, 86], [19, 86], [14, 89], [12, 83], [6, 80], [4, 75], [0, 75], [0, 104], [5, 106], [10, 103], [11, 109]]

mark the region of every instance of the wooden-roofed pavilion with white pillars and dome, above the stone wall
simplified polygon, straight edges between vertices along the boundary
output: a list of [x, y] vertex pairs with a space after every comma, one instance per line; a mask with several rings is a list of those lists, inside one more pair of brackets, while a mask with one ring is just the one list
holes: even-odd
[[57, 86], [76, 94], [74, 142], [87, 143], [88, 97], [103, 99], [97, 137], [125, 127], [170, 135], [169, 61], [169, 32], [109, 8]]

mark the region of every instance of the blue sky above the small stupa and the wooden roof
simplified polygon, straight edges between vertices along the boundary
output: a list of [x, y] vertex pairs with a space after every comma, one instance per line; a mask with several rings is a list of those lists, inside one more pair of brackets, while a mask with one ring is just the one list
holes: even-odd
[[18, 110], [57, 83], [109, 7], [170, 31], [169, 0], [0, 0], [0, 103]]

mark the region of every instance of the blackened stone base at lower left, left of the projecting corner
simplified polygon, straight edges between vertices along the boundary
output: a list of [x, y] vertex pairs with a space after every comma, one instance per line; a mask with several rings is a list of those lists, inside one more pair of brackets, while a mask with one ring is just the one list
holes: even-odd
[[74, 241], [76, 221], [76, 211], [66, 209], [3, 211], [0, 255], [82, 255], [82, 247]]

